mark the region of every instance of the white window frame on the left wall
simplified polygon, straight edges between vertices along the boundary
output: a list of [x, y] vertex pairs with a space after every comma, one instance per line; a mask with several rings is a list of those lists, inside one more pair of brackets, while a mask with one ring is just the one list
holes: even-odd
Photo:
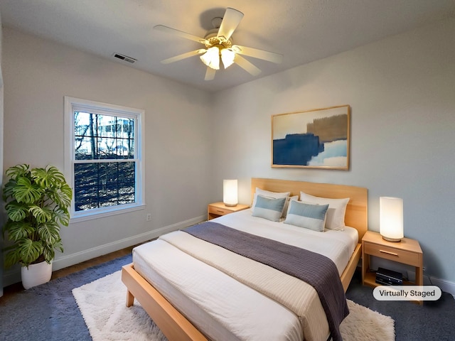
[[[100, 217], [108, 217], [111, 215], [118, 215], [122, 213], [132, 212], [135, 210], [143, 210], [145, 207], [144, 202], [144, 134], [142, 134], [144, 127], [145, 112], [142, 109], [135, 109], [130, 107], [122, 107], [114, 104], [107, 104], [102, 102], [90, 101], [87, 99], [80, 99], [75, 97], [65, 96], [65, 177], [70, 184], [71, 188], [75, 188], [74, 164], [75, 164], [75, 126], [74, 126], [74, 112], [85, 111], [93, 114], [106, 114], [117, 117], [127, 117], [134, 119], [134, 156], [132, 161], [136, 162], [135, 174], [135, 197], [136, 202], [131, 204], [99, 207], [91, 210], [75, 210], [75, 197], [73, 190], [73, 200], [71, 202], [71, 220], [70, 222], [80, 222], [84, 220], [97, 219]], [[104, 160], [103, 160], [104, 161]], [[107, 160], [106, 162], [108, 162]]]

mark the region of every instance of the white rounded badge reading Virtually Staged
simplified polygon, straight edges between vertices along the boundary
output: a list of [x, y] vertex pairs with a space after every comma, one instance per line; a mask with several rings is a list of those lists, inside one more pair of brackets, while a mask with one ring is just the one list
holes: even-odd
[[378, 301], [437, 301], [441, 295], [437, 286], [377, 286], [373, 290]]

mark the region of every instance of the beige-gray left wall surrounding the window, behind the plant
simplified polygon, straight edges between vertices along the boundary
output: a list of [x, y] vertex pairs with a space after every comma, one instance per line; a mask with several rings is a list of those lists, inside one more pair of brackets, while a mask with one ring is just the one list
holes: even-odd
[[65, 95], [146, 112], [146, 209], [64, 227], [65, 253], [57, 254], [54, 270], [205, 218], [207, 93], [10, 28], [4, 28], [3, 66], [4, 169], [29, 163], [63, 170]]

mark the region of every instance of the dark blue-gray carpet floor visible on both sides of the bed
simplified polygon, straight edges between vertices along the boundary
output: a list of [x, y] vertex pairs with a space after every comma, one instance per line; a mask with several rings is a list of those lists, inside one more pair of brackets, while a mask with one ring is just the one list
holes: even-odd
[[[121, 269], [131, 255], [58, 278], [17, 293], [0, 305], [1, 341], [90, 341], [71, 290]], [[396, 340], [455, 340], [455, 301], [448, 293], [437, 302], [376, 301], [373, 289], [355, 274], [347, 298], [395, 320]], [[348, 341], [348, 340], [347, 340]]]

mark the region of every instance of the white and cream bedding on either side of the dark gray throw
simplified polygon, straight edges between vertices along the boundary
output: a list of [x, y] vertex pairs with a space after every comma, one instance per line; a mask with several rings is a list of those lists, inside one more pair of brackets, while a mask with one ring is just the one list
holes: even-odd
[[[220, 217], [216, 222], [318, 251], [335, 261], [340, 274], [357, 242], [355, 229], [313, 232], [252, 217], [250, 210]], [[188, 237], [195, 238], [185, 232], [175, 232], [135, 248], [134, 267], [205, 335], [213, 340], [302, 340], [304, 337], [305, 340], [326, 340], [328, 324], [314, 288], [295, 278], [286, 278], [287, 275], [267, 272], [250, 274], [252, 276], [247, 278], [253, 283], [245, 285], [245, 281], [226, 274], [230, 270], [207, 266], [204, 260], [191, 255], [192, 247], [203, 248], [202, 254], [209, 254], [213, 246], [205, 249], [205, 242], [199, 239], [189, 243], [189, 247], [178, 245], [181, 238]], [[243, 261], [228, 261], [228, 256], [222, 258], [232, 269], [236, 265], [238, 269], [247, 269]], [[274, 283], [273, 288], [259, 293], [261, 289], [255, 286], [266, 281]], [[285, 284], [291, 285], [285, 288]], [[298, 296], [299, 291], [304, 295]]]

